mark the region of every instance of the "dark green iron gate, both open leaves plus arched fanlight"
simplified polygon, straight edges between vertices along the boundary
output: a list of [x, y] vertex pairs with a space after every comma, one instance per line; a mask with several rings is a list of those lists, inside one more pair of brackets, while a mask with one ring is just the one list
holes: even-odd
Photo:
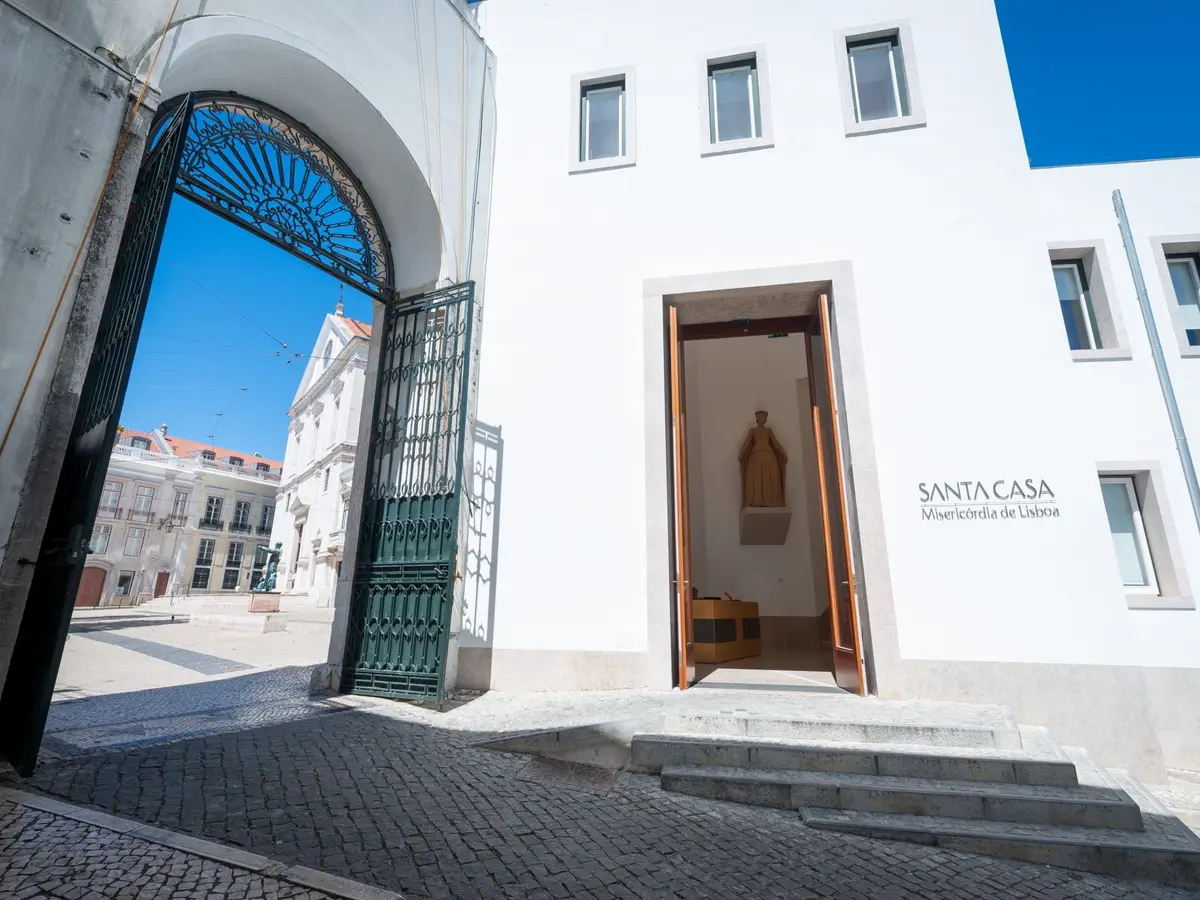
[[37, 757], [167, 214], [175, 193], [385, 307], [342, 689], [437, 698], [454, 605], [474, 288], [398, 299], [362, 186], [300, 122], [235, 94], [163, 103], [151, 128], [0, 698], [0, 751]]

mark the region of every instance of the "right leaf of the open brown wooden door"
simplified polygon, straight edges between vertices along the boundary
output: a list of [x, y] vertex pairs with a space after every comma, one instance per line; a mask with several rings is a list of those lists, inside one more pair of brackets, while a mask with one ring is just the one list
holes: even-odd
[[865, 694], [863, 655], [858, 641], [858, 607], [854, 570], [850, 554], [846, 518], [846, 484], [839, 438], [841, 410], [829, 352], [829, 300], [822, 294], [820, 316], [809, 332], [809, 390], [812, 401], [812, 436], [817, 450], [821, 516], [829, 586], [829, 618], [833, 622], [833, 671], [838, 686]]

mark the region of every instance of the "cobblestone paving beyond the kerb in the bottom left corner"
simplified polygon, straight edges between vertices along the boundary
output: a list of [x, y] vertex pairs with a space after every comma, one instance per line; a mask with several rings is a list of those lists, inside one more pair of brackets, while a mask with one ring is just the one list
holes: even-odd
[[326, 900], [326, 894], [0, 800], [0, 896]]

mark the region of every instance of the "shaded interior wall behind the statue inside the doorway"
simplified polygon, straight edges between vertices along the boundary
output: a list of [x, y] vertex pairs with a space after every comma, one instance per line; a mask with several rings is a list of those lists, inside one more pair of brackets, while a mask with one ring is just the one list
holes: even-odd
[[[701, 596], [728, 592], [757, 602], [769, 640], [766, 619], [812, 618], [827, 605], [814, 582], [810, 536], [821, 536], [811, 533], [808, 516], [815, 473], [805, 467], [806, 420], [797, 403], [798, 382], [808, 374], [804, 337], [690, 341], [684, 361], [692, 584]], [[756, 409], [769, 413], [767, 424], [788, 456], [785, 492], [792, 523], [781, 546], [742, 546], [738, 535], [738, 450]]]

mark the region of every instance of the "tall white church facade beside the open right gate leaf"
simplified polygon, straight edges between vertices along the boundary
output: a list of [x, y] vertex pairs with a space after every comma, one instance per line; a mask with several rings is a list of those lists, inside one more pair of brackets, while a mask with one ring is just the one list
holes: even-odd
[[326, 314], [288, 410], [288, 449], [271, 545], [283, 544], [280, 587], [331, 606], [346, 540], [354, 448], [371, 326]]

